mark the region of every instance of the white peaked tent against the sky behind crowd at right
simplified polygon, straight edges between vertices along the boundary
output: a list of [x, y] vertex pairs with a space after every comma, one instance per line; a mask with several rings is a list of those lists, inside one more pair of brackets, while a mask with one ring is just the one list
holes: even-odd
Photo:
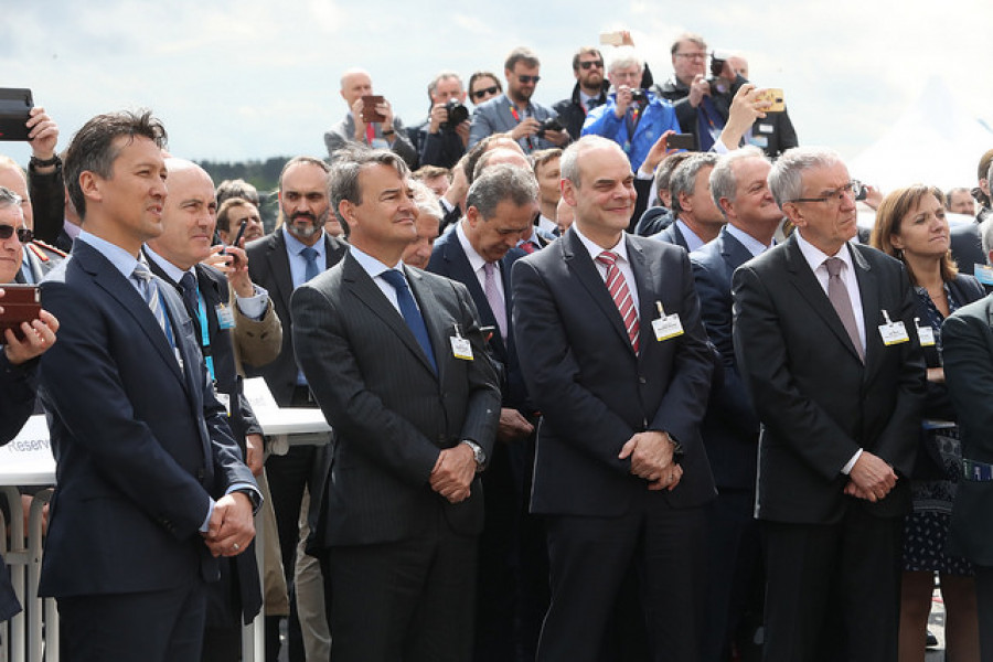
[[993, 131], [962, 106], [944, 81], [932, 77], [889, 130], [848, 162], [852, 177], [882, 189], [923, 183], [948, 191], [976, 185], [980, 158]]

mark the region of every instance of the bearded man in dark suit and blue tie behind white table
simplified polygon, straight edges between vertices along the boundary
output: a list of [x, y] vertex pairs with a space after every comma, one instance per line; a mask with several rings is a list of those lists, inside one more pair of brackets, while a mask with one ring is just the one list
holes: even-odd
[[[276, 314], [282, 324], [282, 346], [275, 361], [263, 366], [246, 362], [249, 377], [265, 377], [273, 397], [280, 407], [313, 407], [314, 401], [303, 373], [297, 365], [292, 342], [292, 320], [289, 313], [293, 289], [321, 271], [338, 264], [345, 253], [345, 243], [324, 232], [331, 206], [328, 202], [328, 164], [311, 157], [296, 157], [287, 161], [279, 175], [279, 218], [276, 229], [248, 244], [248, 275], [252, 281], [266, 288]], [[321, 463], [321, 452], [313, 446], [293, 446], [286, 455], [270, 455], [266, 459], [266, 474], [276, 511], [279, 548], [287, 586], [292, 586], [299, 542], [300, 505], [305, 488], [319, 493], [314, 469]], [[290, 660], [302, 660], [302, 643], [297, 645], [295, 624], [297, 601], [290, 600]], [[278, 647], [278, 619], [266, 628], [270, 647]]]

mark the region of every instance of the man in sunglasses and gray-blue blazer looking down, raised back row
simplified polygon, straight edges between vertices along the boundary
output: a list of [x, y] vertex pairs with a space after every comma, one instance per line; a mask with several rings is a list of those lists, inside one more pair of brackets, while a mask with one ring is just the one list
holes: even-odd
[[569, 135], [562, 125], [558, 129], [545, 126], [547, 120], [556, 117], [555, 111], [531, 100], [541, 79], [541, 66], [537, 55], [530, 49], [511, 51], [503, 67], [506, 94], [477, 106], [469, 130], [470, 149], [493, 134], [510, 134], [526, 154], [568, 143]]

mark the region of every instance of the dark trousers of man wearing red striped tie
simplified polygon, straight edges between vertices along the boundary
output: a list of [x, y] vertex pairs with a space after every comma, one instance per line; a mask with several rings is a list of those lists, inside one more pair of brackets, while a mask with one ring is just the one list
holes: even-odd
[[632, 567], [650, 660], [698, 660], [705, 583], [703, 508], [672, 509], [647, 492], [641, 505], [620, 517], [554, 515], [546, 524], [552, 605], [537, 660], [597, 660]]

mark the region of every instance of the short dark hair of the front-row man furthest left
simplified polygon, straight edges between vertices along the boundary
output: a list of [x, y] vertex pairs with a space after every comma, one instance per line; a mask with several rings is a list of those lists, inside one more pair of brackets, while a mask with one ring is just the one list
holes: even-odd
[[114, 174], [114, 161], [122, 147], [115, 146], [114, 141], [125, 137], [130, 145], [136, 136], [148, 138], [160, 149], [166, 148], [166, 127], [148, 109], [97, 115], [73, 136], [65, 150], [63, 169], [70, 200], [81, 218], [86, 218], [86, 196], [79, 185], [79, 175], [93, 172], [103, 179], [109, 179]]

